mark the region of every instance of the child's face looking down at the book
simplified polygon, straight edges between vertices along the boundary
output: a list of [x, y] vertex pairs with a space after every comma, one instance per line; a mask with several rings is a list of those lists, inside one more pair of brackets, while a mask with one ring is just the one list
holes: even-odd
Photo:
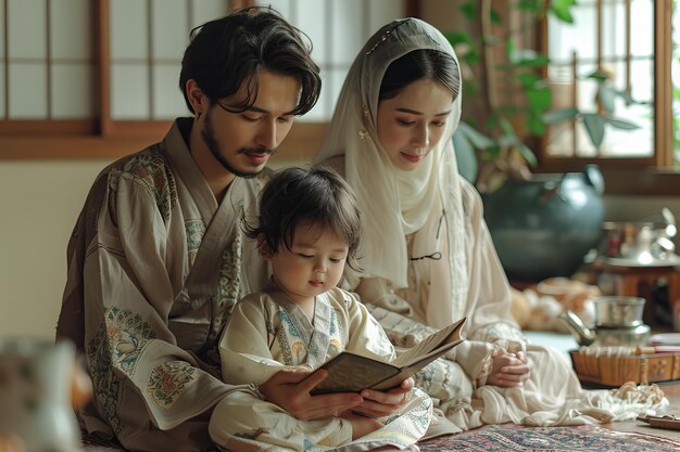
[[348, 249], [348, 243], [336, 234], [303, 224], [295, 229], [290, 250], [281, 244], [278, 253], [265, 259], [272, 262], [274, 281], [300, 305], [338, 284]]

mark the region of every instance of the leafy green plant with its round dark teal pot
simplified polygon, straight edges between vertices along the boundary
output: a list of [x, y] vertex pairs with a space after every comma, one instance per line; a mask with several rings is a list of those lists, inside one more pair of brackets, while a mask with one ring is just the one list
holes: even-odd
[[[504, 14], [494, 10], [499, 4], [506, 8]], [[602, 232], [604, 181], [597, 167], [565, 175], [530, 171], [537, 164], [531, 147], [547, 126], [583, 121], [595, 147], [606, 127], [637, 127], [614, 116], [614, 99], [625, 94], [609, 86], [605, 73], [588, 75], [599, 86], [596, 111], [551, 109], [546, 55], [520, 46], [516, 30], [501, 20], [514, 9], [515, 27], [525, 31], [534, 30], [547, 15], [572, 23], [575, 4], [575, 0], [464, 1], [459, 11], [469, 26], [445, 34], [459, 57], [466, 100], [454, 135], [456, 157], [463, 176], [482, 194], [484, 218], [511, 280], [569, 276]], [[499, 74], [504, 91], [512, 93], [504, 99], [495, 92]]]

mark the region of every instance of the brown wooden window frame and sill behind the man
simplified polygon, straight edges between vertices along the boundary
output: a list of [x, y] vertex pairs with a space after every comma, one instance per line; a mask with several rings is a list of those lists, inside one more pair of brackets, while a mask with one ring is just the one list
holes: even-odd
[[[228, 8], [245, 8], [253, 3], [251, 0], [228, 0]], [[7, 8], [8, 3], [4, 4]], [[115, 159], [163, 139], [172, 120], [113, 120], [111, 117], [109, 11], [109, 0], [93, 2], [95, 118], [2, 119], [0, 160]], [[310, 143], [320, 145], [326, 128], [327, 124], [322, 122], [294, 125], [279, 147], [277, 158], [312, 158], [318, 146]]]

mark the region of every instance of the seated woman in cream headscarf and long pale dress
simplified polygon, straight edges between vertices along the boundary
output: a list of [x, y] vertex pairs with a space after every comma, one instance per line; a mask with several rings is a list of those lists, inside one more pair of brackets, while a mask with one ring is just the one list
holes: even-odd
[[440, 31], [405, 18], [367, 41], [315, 158], [344, 173], [364, 211], [363, 272], [349, 288], [396, 346], [467, 317], [468, 340], [416, 378], [448, 431], [610, 421], [595, 408], [606, 392], [583, 391], [567, 360], [527, 345], [513, 320], [480, 197], [457, 173], [459, 118], [459, 68]]

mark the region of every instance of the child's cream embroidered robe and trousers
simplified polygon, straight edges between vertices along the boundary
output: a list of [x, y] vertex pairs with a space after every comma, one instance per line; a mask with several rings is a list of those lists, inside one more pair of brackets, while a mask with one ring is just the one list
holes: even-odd
[[[231, 384], [260, 384], [285, 367], [317, 369], [343, 350], [385, 360], [395, 356], [366, 308], [337, 287], [316, 297], [314, 324], [274, 285], [251, 294], [236, 306], [219, 341], [223, 377]], [[431, 399], [414, 389], [404, 406], [381, 418], [383, 427], [352, 440], [351, 423], [342, 417], [301, 421], [263, 400], [254, 388], [244, 388], [217, 403], [210, 434], [234, 452], [405, 449], [425, 435], [431, 413]]]

